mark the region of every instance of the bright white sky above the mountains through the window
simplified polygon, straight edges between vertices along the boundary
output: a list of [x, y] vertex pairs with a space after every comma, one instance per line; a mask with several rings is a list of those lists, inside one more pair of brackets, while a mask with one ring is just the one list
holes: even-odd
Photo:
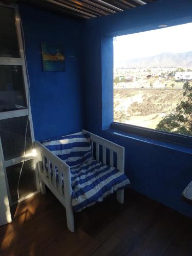
[[163, 52], [192, 51], [192, 23], [114, 38], [114, 67], [123, 60], [154, 56]]

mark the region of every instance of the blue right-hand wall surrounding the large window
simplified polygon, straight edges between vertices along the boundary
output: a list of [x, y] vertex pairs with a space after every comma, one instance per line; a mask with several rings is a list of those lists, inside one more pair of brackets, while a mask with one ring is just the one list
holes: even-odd
[[[89, 20], [85, 40], [86, 129], [125, 147], [125, 173], [132, 188], [192, 217], [192, 207], [180, 200], [192, 180], [191, 150], [163, 145], [136, 135], [114, 135], [113, 120], [113, 37], [192, 22], [189, 0], [157, 0], [117, 14]], [[192, 145], [191, 145], [192, 146]]]

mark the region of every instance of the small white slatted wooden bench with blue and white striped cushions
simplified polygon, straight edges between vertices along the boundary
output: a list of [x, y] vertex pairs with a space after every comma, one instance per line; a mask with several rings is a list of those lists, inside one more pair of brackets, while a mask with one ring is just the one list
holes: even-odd
[[[70, 231], [74, 231], [73, 211], [101, 202], [115, 191], [117, 201], [123, 203], [124, 188], [130, 185], [124, 175], [124, 147], [85, 130], [35, 143], [41, 193], [46, 193], [47, 185], [65, 206]], [[107, 148], [109, 165], [106, 165]]]

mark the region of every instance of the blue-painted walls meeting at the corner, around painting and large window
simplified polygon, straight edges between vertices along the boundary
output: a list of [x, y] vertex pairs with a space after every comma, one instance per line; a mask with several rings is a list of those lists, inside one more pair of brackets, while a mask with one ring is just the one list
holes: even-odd
[[[190, 150], [136, 135], [121, 137], [113, 121], [113, 37], [192, 22], [190, 0], [157, 0], [86, 24], [31, 7], [19, 6], [25, 30], [35, 138], [47, 139], [88, 129], [125, 147], [125, 173], [132, 188], [183, 214], [180, 200], [192, 179]], [[84, 36], [83, 36], [84, 35]], [[66, 72], [46, 73], [40, 42], [63, 42]], [[83, 113], [85, 113], [83, 115]], [[106, 130], [108, 129], [108, 130]]]

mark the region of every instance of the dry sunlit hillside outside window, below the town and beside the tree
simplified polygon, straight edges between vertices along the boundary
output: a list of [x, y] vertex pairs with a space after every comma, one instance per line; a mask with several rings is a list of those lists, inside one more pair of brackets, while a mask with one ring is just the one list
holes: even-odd
[[160, 120], [183, 99], [183, 91], [115, 89], [114, 121], [156, 129]]

